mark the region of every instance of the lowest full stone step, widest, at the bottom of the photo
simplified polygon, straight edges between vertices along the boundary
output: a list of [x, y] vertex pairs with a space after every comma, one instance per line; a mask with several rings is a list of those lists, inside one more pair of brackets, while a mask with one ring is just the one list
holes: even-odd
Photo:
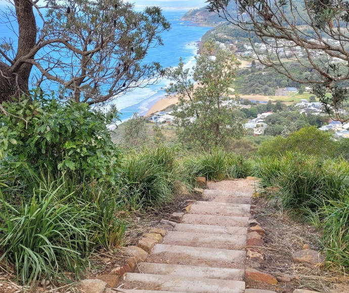
[[192, 278], [190, 276], [164, 276], [152, 274], [126, 273], [124, 275], [125, 288], [145, 288], [175, 292], [197, 293], [243, 293], [245, 282], [233, 280], [218, 280]]

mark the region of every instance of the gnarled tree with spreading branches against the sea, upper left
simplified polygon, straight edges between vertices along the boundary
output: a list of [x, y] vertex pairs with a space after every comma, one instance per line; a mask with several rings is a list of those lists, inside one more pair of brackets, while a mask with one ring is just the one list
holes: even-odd
[[121, 0], [9, 0], [3, 15], [16, 38], [0, 44], [0, 103], [55, 83], [61, 99], [92, 105], [159, 77], [160, 65], [144, 61], [170, 27], [158, 7], [136, 12]]

